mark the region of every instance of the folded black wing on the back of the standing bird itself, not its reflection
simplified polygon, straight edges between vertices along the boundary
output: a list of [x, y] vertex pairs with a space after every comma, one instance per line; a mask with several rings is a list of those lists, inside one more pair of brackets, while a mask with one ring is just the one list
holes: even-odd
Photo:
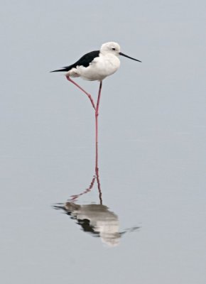
[[51, 71], [51, 72], [67, 72], [67, 71], [70, 71], [72, 68], [75, 68], [77, 66], [88, 67], [90, 65], [90, 63], [94, 60], [94, 58], [97, 58], [98, 56], [99, 56], [99, 50], [91, 51], [90, 53], [83, 55], [82, 58], [77, 60], [77, 62], [75, 62], [74, 64], [72, 64], [70, 66], [65, 66], [65, 67], [63, 67], [63, 69], [54, 70], [54, 71]]

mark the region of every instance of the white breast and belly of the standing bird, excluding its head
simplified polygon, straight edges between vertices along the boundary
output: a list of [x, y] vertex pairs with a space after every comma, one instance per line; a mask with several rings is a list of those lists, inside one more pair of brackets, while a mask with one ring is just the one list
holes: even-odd
[[102, 81], [109, 75], [114, 74], [120, 65], [119, 58], [116, 55], [100, 55], [99, 58], [90, 63], [90, 66], [77, 66], [78, 75], [85, 80]]

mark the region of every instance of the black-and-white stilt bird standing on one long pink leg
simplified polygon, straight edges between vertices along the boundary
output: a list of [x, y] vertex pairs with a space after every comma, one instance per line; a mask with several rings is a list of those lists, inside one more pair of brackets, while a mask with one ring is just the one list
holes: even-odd
[[[90, 99], [92, 103], [92, 107], [95, 110], [95, 121], [96, 121], [96, 160], [97, 160], [97, 143], [98, 143], [98, 115], [99, 115], [99, 101], [102, 91], [102, 81], [114, 74], [119, 69], [120, 60], [119, 55], [124, 56], [125, 58], [129, 58], [131, 60], [137, 60], [135, 58], [131, 58], [130, 56], [120, 52], [119, 43], [109, 42], [103, 43], [100, 50], [94, 50], [90, 53], [86, 53], [83, 55], [77, 62], [72, 65], [68, 65], [62, 67], [58, 70], [53, 70], [50, 72], [65, 72], [65, 76], [68, 81], [75, 84], [76, 87], [82, 90], [87, 97]], [[99, 81], [99, 92], [97, 97], [97, 104], [94, 104], [94, 99], [91, 94], [82, 89], [79, 84], [71, 79], [71, 77], [81, 77], [84, 80], [88, 81]], [[97, 165], [96, 165], [97, 168]]]

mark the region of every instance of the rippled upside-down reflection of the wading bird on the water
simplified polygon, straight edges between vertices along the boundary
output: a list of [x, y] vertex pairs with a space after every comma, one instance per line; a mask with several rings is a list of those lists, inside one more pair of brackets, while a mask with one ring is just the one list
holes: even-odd
[[[99, 191], [99, 204], [77, 204], [77, 200], [82, 195], [87, 194], [94, 187], [97, 181], [97, 188]], [[95, 169], [95, 175], [90, 182], [90, 186], [83, 192], [77, 195], [71, 195], [70, 200], [65, 204], [55, 205], [55, 209], [63, 209], [63, 211], [76, 220], [77, 224], [82, 227], [82, 230], [99, 236], [104, 244], [108, 246], [117, 246], [123, 234], [129, 231], [136, 231], [139, 227], [132, 227], [124, 231], [119, 231], [119, 218], [109, 210], [109, 208], [102, 204], [102, 190], [99, 179], [99, 168]]]

